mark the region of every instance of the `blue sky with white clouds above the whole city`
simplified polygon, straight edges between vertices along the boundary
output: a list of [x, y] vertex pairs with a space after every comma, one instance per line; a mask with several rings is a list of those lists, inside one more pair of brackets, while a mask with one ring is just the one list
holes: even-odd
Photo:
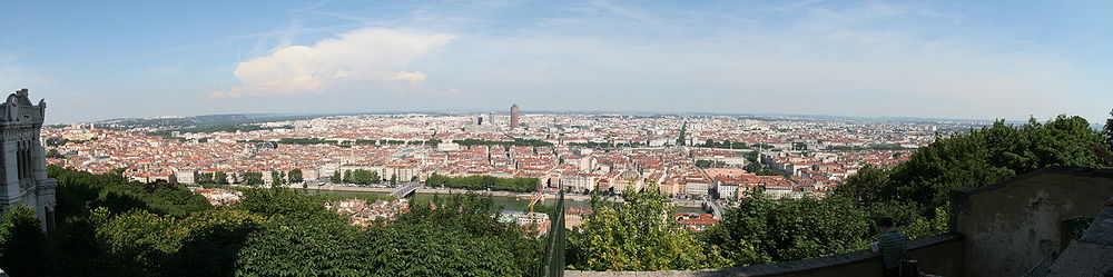
[[48, 122], [213, 113], [1113, 109], [1113, 1], [0, 1]]

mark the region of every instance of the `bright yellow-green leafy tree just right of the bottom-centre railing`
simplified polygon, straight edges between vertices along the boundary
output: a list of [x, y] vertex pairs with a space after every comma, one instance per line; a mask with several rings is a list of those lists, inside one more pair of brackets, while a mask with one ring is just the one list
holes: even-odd
[[666, 270], [729, 266], [717, 246], [697, 240], [671, 218], [674, 208], [656, 186], [622, 194], [624, 202], [593, 196], [583, 225], [568, 241], [570, 268]]

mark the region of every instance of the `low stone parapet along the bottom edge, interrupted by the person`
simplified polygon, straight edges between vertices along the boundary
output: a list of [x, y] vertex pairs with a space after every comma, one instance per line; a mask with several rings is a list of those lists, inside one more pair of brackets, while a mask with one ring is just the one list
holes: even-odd
[[[963, 277], [963, 237], [946, 234], [912, 241], [908, 255], [920, 261], [920, 270], [948, 277]], [[666, 271], [575, 271], [567, 270], [569, 277], [626, 277], [626, 276], [752, 276], [752, 277], [829, 277], [860, 276], [880, 277], [881, 259], [869, 250], [814, 259], [792, 260], [772, 265], [732, 267], [708, 270]]]

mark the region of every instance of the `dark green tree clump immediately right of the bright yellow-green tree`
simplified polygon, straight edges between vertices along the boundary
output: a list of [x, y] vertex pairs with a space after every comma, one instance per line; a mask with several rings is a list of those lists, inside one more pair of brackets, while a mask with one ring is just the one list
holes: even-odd
[[848, 198], [772, 200], [758, 194], [742, 198], [702, 235], [742, 266], [864, 249], [869, 221]]

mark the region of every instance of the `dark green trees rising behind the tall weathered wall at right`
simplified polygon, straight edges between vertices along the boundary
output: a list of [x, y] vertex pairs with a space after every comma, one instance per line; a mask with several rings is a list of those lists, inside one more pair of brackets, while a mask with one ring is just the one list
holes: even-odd
[[1032, 119], [1020, 127], [997, 121], [968, 133], [939, 138], [890, 170], [863, 169], [836, 194], [865, 199], [859, 202], [863, 206], [913, 202], [920, 208], [920, 215], [933, 218], [936, 208], [948, 205], [954, 188], [989, 186], [1050, 166], [1101, 168], [1090, 150], [1091, 144], [1100, 141], [1097, 131], [1081, 117], [1060, 116], [1045, 123]]

